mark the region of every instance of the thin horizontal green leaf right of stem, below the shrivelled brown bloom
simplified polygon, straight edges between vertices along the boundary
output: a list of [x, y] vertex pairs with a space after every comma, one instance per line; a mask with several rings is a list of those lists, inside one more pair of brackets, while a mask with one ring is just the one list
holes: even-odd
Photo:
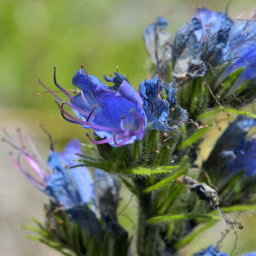
[[218, 216], [210, 216], [210, 215], [200, 215], [200, 214], [177, 214], [177, 215], [162, 215], [156, 216], [153, 218], [148, 218], [148, 224], [159, 224], [160, 222], [172, 221], [177, 219], [189, 219], [189, 218], [207, 218], [207, 219], [215, 219], [221, 220], [221, 217]]

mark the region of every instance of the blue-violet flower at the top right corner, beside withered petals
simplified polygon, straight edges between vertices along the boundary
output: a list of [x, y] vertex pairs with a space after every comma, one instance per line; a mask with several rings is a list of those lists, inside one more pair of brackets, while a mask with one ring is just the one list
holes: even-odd
[[[256, 79], [256, 21], [231, 20], [226, 12], [218, 13], [209, 9], [197, 9], [196, 17], [201, 20], [202, 29], [195, 32], [198, 42], [203, 42], [201, 60], [216, 67], [231, 61], [223, 77], [236, 68], [245, 67], [236, 84]], [[208, 62], [208, 64], [207, 64]]]

